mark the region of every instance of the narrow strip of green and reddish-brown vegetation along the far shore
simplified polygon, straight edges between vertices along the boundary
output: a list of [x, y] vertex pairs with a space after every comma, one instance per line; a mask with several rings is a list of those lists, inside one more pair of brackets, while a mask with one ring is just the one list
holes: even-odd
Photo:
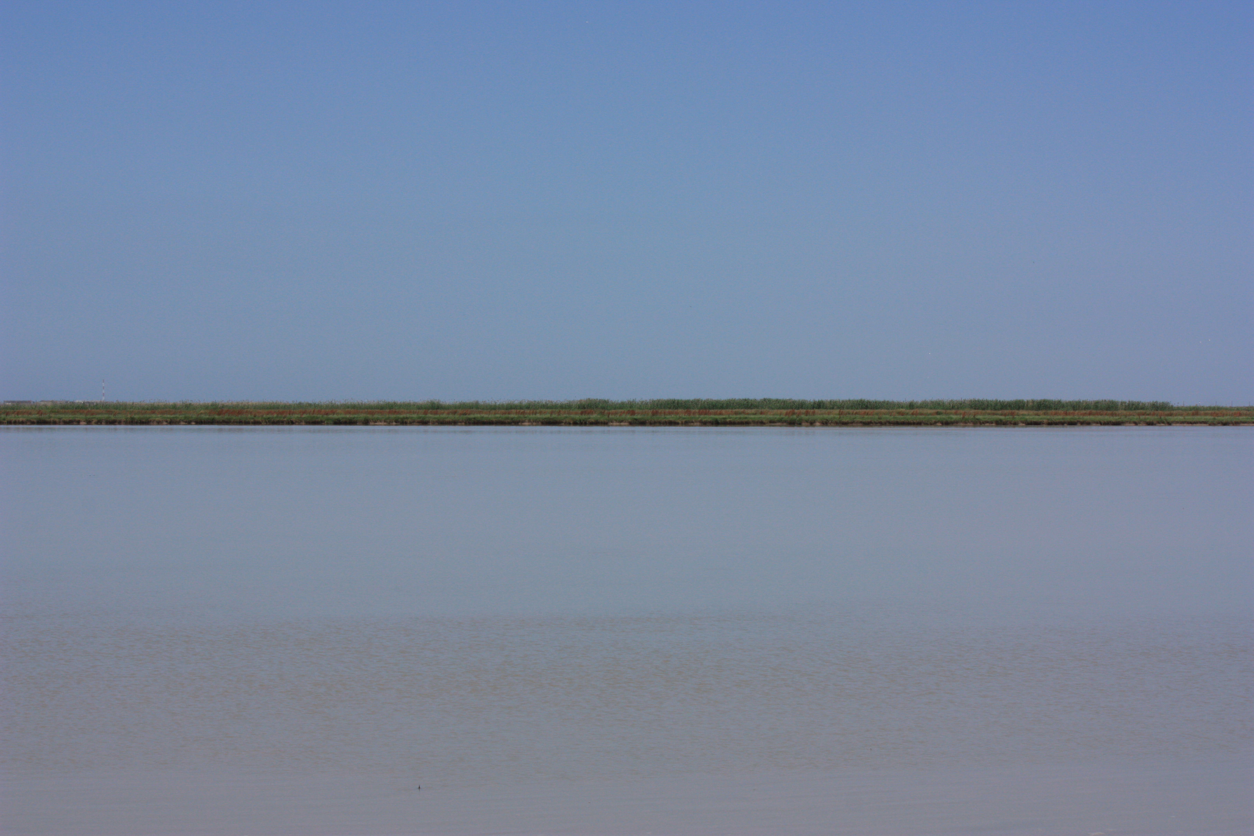
[[125, 404], [9, 401], [0, 424], [226, 424], [394, 426], [1075, 426], [1246, 425], [1254, 406], [1172, 406], [1165, 401], [466, 401], [444, 404]]

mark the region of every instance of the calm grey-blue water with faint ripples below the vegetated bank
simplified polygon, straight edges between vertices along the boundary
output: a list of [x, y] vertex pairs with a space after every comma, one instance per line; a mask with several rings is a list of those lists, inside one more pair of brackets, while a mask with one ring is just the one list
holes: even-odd
[[5, 832], [1254, 830], [1248, 430], [0, 456]]

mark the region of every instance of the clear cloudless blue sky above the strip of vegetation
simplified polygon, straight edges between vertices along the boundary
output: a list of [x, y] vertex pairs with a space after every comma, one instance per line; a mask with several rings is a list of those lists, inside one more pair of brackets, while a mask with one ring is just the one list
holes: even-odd
[[0, 397], [1254, 402], [1249, 3], [0, 18]]

